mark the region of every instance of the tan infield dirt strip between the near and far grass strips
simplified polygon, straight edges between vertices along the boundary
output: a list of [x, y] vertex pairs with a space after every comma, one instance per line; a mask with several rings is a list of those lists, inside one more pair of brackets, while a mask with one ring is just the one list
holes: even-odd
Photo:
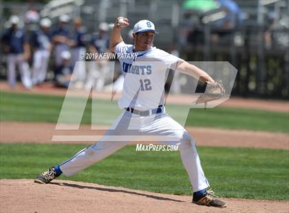
[[[65, 143], [81, 144], [94, 141], [58, 141], [52, 142], [53, 135], [103, 135], [101, 131], [92, 131], [89, 125], [83, 125], [78, 131], [56, 131], [55, 124], [0, 122], [0, 142], [5, 143]], [[253, 148], [275, 148], [289, 150], [289, 135], [286, 133], [267, 133], [262, 131], [233, 131], [218, 128], [186, 128], [193, 135], [197, 146], [231, 146]]]

